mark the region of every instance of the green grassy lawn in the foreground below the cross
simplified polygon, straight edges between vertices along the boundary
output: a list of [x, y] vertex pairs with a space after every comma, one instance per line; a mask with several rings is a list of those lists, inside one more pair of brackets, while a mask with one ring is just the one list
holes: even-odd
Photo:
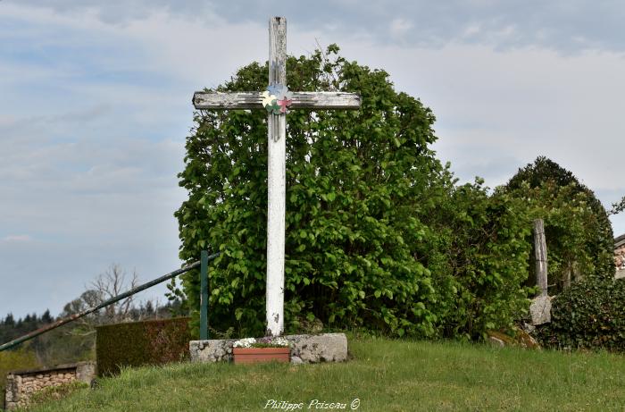
[[[37, 411], [625, 410], [625, 357], [452, 342], [351, 339], [344, 364], [179, 364], [126, 370]], [[314, 399], [318, 404], [310, 404]], [[267, 406], [267, 408], [265, 408]], [[279, 403], [275, 404], [279, 407]]]

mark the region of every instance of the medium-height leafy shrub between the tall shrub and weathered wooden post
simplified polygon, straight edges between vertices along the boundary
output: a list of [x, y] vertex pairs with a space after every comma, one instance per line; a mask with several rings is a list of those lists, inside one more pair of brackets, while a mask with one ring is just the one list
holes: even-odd
[[[483, 181], [454, 188], [432, 216], [439, 335], [480, 339], [527, 312], [531, 223], [518, 199], [488, 196]], [[437, 252], [438, 249], [439, 251]], [[442, 252], [442, 253], [441, 253]]]

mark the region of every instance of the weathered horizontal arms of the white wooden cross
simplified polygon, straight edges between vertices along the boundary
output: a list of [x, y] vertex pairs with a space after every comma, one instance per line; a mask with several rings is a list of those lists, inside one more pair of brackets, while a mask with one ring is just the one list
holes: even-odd
[[[262, 94], [260, 92], [237, 93], [205, 93], [193, 95], [196, 109], [227, 110], [227, 109], [260, 109]], [[360, 107], [360, 96], [355, 93], [338, 91], [300, 91], [293, 92], [293, 102], [289, 109], [357, 109]]]

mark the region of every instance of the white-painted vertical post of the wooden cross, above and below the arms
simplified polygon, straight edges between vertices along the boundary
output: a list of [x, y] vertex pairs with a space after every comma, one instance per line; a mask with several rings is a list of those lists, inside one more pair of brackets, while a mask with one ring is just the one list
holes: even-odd
[[[269, 83], [287, 84], [287, 19], [269, 22]], [[284, 331], [284, 242], [287, 198], [287, 116], [268, 114], [267, 175], [267, 335]]]

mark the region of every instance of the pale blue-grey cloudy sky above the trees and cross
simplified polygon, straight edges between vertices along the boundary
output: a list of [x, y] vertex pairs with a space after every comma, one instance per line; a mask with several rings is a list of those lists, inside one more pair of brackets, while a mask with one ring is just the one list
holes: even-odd
[[0, 316], [58, 314], [112, 263], [179, 267], [191, 96], [264, 62], [275, 14], [289, 54], [337, 43], [421, 98], [461, 181], [544, 155], [625, 195], [622, 2], [0, 0]]

